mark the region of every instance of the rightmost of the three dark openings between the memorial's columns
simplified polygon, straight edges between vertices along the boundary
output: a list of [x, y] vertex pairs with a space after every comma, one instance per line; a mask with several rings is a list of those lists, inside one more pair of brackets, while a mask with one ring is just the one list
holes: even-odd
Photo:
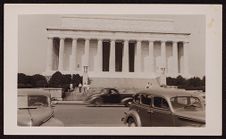
[[135, 43], [129, 43], [129, 72], [134, 72]]

